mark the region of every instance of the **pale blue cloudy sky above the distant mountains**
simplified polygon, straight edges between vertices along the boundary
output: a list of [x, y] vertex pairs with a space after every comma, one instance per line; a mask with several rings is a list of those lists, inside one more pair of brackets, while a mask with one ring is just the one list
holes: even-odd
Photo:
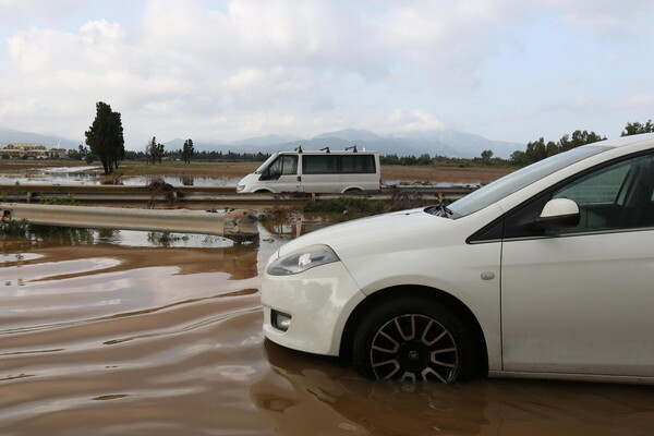
[[[84, 137], [451, 129], [619, 136], [654, 118], [651, 0], [0, 0], [0, 128]], [[0, 141], [1, 142], [1, 141]]]

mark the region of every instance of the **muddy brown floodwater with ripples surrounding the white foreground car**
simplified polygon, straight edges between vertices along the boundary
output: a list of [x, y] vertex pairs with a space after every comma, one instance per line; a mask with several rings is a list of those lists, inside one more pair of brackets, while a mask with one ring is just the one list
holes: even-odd
[[0, 434], [654, 434], [652, 387], [373, 383], [265, 341], [261, 274], [296, 232], [261, 230], [0, 239]]

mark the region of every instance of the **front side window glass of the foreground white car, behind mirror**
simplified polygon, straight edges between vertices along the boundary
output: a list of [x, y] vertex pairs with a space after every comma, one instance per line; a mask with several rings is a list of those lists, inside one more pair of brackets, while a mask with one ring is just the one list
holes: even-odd
[[546, 234], [654, 226], [654, 156], [638, 156], [577, 179], [552, 194], [579, 206], [579, 226]]

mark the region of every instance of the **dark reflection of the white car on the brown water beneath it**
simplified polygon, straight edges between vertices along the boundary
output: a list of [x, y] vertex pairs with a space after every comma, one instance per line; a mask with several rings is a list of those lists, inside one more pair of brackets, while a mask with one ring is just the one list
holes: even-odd
[[482, 379], [453, 386], [371, 383], [265, 342], [281, 379], [251, 389], [284, 435], [651, 435], [650, 387]]

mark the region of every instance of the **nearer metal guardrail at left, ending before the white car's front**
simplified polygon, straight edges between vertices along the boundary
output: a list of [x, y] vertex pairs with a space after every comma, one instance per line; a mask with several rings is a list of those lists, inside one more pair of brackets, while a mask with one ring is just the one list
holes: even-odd
[[245, 209], [225, 214], [186, 209], [136, 209], [0, 203], [2, 221], [40, 226], [215, 234], [235, 242], [258, 238], [257, 217]]

